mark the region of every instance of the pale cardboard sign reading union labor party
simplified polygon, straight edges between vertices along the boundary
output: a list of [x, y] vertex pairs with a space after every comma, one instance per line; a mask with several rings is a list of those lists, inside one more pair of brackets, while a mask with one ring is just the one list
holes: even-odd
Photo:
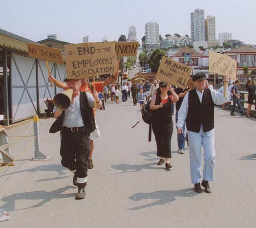
[[225, 54], [209, 52], [209, 72], [236, 80], [237, 62]]

